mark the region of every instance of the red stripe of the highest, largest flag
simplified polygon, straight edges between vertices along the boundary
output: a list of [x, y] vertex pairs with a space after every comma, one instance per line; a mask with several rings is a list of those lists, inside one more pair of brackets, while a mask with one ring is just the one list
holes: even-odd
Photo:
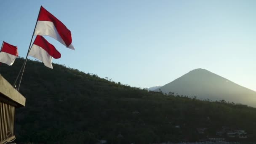
[[38, 16], [38, 21], [51, 21], [53, 22], [54, 26], [56, 27], [59, 35], [61, 36], [62, 40], [65, 42], [66, 46], [68, 47], [72, 43], [71, 32], [67, 27], [59, 21], [55, 16], [53, 16], [50, 12], [48, 12], [43, 6], [40, 8], [40, 13]]

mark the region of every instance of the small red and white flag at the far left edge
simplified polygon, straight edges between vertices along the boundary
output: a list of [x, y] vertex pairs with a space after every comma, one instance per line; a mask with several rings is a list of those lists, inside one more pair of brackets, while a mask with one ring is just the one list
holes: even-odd
[[0, 51], [0, 62], [11, 66], [18, 56], [19, 53], [16, 46], [3, 42], [3, 47]]

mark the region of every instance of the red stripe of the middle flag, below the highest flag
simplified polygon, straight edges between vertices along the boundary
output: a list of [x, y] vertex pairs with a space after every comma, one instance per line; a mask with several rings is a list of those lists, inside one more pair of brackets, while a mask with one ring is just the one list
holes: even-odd
[[57, 51], [56, 48], [41, 35], [37, 35], [34, 44], [43, 48], [54, 59], [59, 59], [61, 57], [61, 53], [59, 53], [59, 51]]

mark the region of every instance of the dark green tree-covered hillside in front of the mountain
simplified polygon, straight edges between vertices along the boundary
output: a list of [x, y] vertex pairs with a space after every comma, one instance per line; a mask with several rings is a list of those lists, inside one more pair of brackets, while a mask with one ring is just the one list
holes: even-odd
[[[23, 61], [2, 64], [1, 75], [12, 84]], [[18, 144], [198, 141], [222, 126], [244, 129], [246, 141], [256, 141], [255, 108], [148, 92], [59, 64], [49, 69], [28, 60], [20, 93], [27, 102], [16, 110]], [[196, 128], [208, 129], [200, 135]]]

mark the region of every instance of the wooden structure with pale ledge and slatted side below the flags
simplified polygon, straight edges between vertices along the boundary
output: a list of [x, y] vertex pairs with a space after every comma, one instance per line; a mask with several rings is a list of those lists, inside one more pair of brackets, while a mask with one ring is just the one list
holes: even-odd
[[15, 109], [25, 106], [26, 99], [0, 75], [0, 144], [15, 140]]

